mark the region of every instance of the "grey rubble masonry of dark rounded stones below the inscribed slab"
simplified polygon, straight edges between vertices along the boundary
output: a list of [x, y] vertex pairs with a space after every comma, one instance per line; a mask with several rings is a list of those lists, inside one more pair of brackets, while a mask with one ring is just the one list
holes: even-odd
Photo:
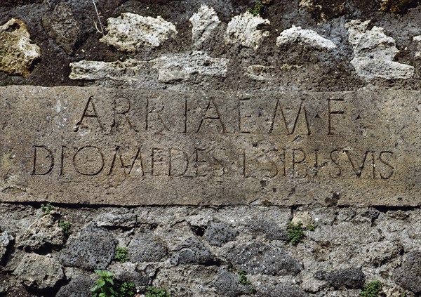
[[[20, 216], [17, 209], [32, 214]], [[190, 296], [241, 296], [250, 289], [256, 290], [256, 296], [358, 296], [364, 282], [373, 279], [382, 282], [387, 296], [420, 293], [420, 209], [380, 211], [370, 216], [377, 210], [360, 206], [299, 206], [293, 211], [279, 206], [107, 207], [114, 214], [133, 213], [142, 222], [123, 227], [119, 220], [112, 220], [114, 224], [108, 223], [107, 228], [93, 223], [107, 221], [107, 212], [59, 210], [72, 222], [68, 242], [44, 249], [43, 254], [11, 249], [2, 261], [2, 269], [10, 272], [8, 281], [0, 282], [4, 292], [25, 284], [44, 296], [55, 296], [53, 292], [58, 292], [57, 296], [88, 296], [97, 278], [93, 270], [107, 269], [120, 281], [135, 282], [141, 291], [153, 284], [165, 287], [173, 296], [184, 296], [186, 291]], [[261, 236], [248, 227], [250, 222], [263, 220], [286, 227], [291, 218], [303, 213], [312, 219], [314, 231], [305, 230], [303, 242], [297, 246]], [[4, 232], [14, 230], [20, 238], [26, 226], [36, 221], [39, 216], [33, 206], [1, 204]], [[175, 221], [197, 227], [182, 230], [187, 239], [179, 244]], [[333, 229], [337, 225], [340, 228]], [[224, 230], [224, 226], [229, 226], [225, 234], [236, 236], [208, 244], [209, 232]], [[199, 229], [203, 232], [197, 232]], [[389, 241], [391, 237], [394, 242]], [[128, 263], [112, 260], [117, 241], [128, 247]], [[246, 275], [247, 282], [239, 282], [240, 273]], [[332, 292], [335, 294], [329, 295]]]

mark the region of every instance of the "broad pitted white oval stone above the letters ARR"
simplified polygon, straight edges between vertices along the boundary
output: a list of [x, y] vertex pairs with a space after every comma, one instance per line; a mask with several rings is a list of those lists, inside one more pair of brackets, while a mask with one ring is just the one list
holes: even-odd
[[100, 41], [115, 46], [119, 51], [135, 52], [142, 46], [156, 48], [178, 34], [175, 25], [161, 16], [144, 17], [135, 13], [121, 13], [107, 20], [107, 35]]

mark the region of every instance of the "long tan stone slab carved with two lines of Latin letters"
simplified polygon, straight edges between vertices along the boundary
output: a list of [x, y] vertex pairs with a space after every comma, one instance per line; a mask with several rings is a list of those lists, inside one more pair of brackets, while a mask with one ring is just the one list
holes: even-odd
[[421, 92], [0, 88], [0, 200], [421, 204]]

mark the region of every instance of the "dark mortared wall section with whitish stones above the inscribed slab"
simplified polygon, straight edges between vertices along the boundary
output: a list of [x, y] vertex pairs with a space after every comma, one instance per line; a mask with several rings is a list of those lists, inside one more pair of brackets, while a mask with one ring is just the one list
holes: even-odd
[[253, 1], [96, 1], [100, 20], [92, 1], [3, 2], [0, 23], [24, 22], [41, 53], [30, 76], [2, 72], [1, 85], [419, 89], [420, 7], [403, 9], [417, 1], [263, 1], [260, 17]]

